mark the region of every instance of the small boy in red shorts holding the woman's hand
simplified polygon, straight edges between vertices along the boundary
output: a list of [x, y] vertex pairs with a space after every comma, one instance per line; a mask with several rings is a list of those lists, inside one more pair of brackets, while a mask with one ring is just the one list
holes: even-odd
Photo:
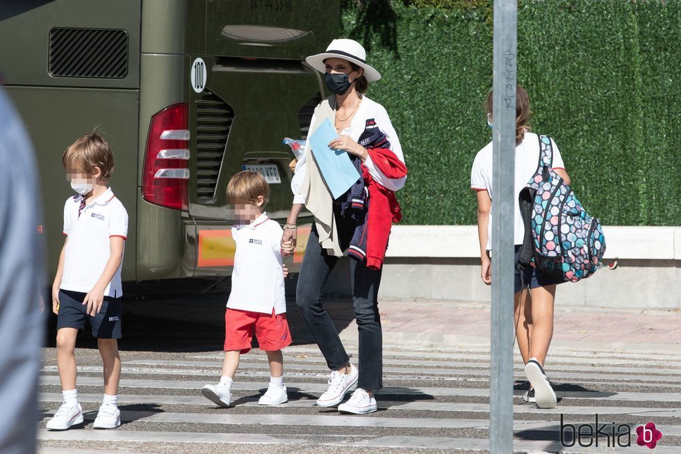
[[[240, 172], [227, 185], [227, 200], [234, 206], [237, 221], [231, 229], [236, 254], [224, 314], [222, 378], [218, 384], [206, 384], [201, 390], [220, 407], [229, 407], [231, 403], [231, 386], [239, 357], [251, 349], [254, 332], [260, 349], [267, 352], [272, 375], [268, 390], [258, 403], [279, 405], [288, 401], [281, 354], [281, 349], [291, 343], [281, 259], [283, 232], [263, 211], [268, 197], [270, 188], [258, 172]], [[293, 252], [293, 243], [286, 243], [283, 249]]]

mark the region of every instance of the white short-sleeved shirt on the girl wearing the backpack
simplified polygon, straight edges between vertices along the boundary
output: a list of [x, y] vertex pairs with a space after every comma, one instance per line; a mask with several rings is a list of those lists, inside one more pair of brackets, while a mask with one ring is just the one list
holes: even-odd
[[[560, 156], [556, 143], [551, 139], [553, 147], [553, 164], [554, 169], [565, 169], [563, 158]], [[518, 206], [518, 195], [527, 181], [530, 181], [536, 168], [539, 165], [539, 136], [532, 132], [526, 132], [523, 142], [516, 146], [516, 178], [514, 190], [514, 244], [523, 244], [523, 236], [525, 236], [525, 226], [523, 225], [523, 218], [520, 216], [520, 206]], [[477, 152], [475, 161], [473, 161], [473, 168], [470, 170], [470, 188], [475, 190], [487, 190], [489, 198], [494, 203], [492, 195], [492, 143], [488, 143], [483, 149]], [[489, 216], [489, 225], [487, 227], [487, 249], [491, 249], [492, 243], [492, 215]]]

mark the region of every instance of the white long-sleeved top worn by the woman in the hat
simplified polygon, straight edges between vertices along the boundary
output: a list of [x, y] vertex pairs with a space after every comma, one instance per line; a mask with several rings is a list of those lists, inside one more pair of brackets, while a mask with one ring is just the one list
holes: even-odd
[[[366, 129], [366, 120], [369, 120], [370, 118], [373, 118], [376, 121], [378, 129], [382, 133], [384, 133], [388, 140], [390, 141], [391, 152], [395, 153], [397, 159], [400, 159], [400, 161], [404, 163], [404, 154], [402, 153], [400, 139], [397, 138], [397, 133], [393, 128], [393, 124], [390, 121], [390, 117], [388, 117], [388, 112], [386, 112], [386, 108], [384, 108], [384, 106], [381, 106], [381, 104], [372, 101], [366, 96], [362, 98], [362, 102], [361, 104], [359, 104], [357, 112], [354, 114], [354, 117], [352, 117], [352, 120], [350, 121], [350, 127], [343, 129], [343, 131], [341, 131], [339, 135], [345, 134], [347, 136], [350, 136], [352, 140], [356, 142], [357, 140], [359, 140], [359, 136], [361, 136], [362, 133], [364, 132], [364, 129]], [[312, 121], [310, 122], [310, 125], [315, 124], [315, 121], [316, 116], [312, 115]], [[310, 133], [312, 132], [313, 131], [310, 131]], [[309, 139], [306, 140], [305, 146], [306, 147], [310, 146]], [[291, 179], [293, 203], [295, 204], [305, 203], [305, 197], [300, 195], [300, 185], [302, 184], [305, 175], [306, 167], [305, 161], [306, 161], [305, 155], [303, 154], [303, 156], [297, 161], [295, 165], [295, 173], [293, 175], [293, 178]], [[371, 160], [371, 157], [368, 157], [366, 159], [364, 165], [369, 171], [371, 177], [378, 184], [384, 186], [384, 188], [388, 188], [390, 190], [400, 190], [402, 189], [402, 186], [404, 186], [404, 182], [407, 181], [407, 177], [395, 179], [386, 177], [385, 175], [383, 175], [383, 172], [381, 172], [380, 170], [378, 170], [378, 168], [375, 167], [373, 161]]]

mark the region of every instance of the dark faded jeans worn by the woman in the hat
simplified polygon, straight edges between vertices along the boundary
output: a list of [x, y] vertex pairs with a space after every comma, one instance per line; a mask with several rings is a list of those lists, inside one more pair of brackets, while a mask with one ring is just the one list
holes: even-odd
[[[352, 239], [352, 222], [336, 216], [338, 238], [341, 248], [347, 249]], [[347, 364], [348, 357], [338, 337], [336, 326], [324, 309], [320, 295], [331, 270], [339, 257], [331, 257], [322, 250], [319, 236], [312, 227], [305, 256], [298, 276], [296, 304], [303, 319], [327, 360], [330, 369], [336, 370]], [[359, 330], [359, 382], [357, 387], [376, 391], [383, 387], [383, 333], [378, 312], [378, 288], [381, 270], [370, 270], [366, 264], [350, 259], [352, 300]]]

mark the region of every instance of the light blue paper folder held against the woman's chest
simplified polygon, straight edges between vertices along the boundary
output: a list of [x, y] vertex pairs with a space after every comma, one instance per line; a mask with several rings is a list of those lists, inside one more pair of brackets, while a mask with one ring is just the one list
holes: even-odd
[[345, 150], [329, 148], [329, 143], [335, 138], [338, 138], [338, 133], [329, 119], [324, 120], [309, 137], [315, 161], [334, 200], [345, 194], [361, 177]]

